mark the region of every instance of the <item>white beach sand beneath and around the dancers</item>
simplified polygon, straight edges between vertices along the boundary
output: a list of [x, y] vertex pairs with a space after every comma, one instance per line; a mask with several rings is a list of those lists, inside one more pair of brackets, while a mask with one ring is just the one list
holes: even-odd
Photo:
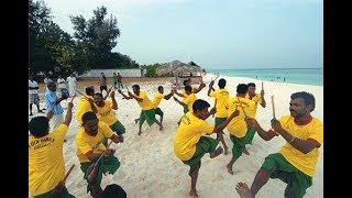
[[[213, 75], [204, 77], [207, 87], [197, 94], [198, 99], [207, 100], [211, 107], [213, 106], [213, 98], [207, 96], [209, 81]], [[220, 76], [221, 78], [222, 76]], [[220, 79], [218, 78], [218, 79]], [[227, 89], [230, 96], [235, 95], [235, 87], [240, 82], [255, 82], [256, 90], [261, 90], [261, 80], [250, 78], [226, 77]], [[217, 86], [218, 80], [215, 84]], [[158, 84], [140, 84], [141, 90], [147, 92], [150, 99], [154, 97], [157, 91]], [[170, 90], [170, 84], [165, 82], [165, 94]], [[98, 87], [97, 87], [98, 88]], [[131, 85], [129, 85], [131, 88]], [[98, 90], [98, 89], [97, 89]], [[288, 105], [290, 95], [296, 91], [308, 91], [316, 97], [316, 110], [312, 112], [314, 117], [323, 121], [323, 87], [322, 86], [307, 86], [295, 84], [282, 84], [275, 81], [264, 81], [265, 99], [267, 107], [257, 109], [257, 121], [263, 129], [270, 128], [270, 120], [272, 119], [271, 96], [275, 96], [276, 117], [289, 113]], [[142, 135], [139, 136], [138, 124], [134, 124], [134, 119], [139, 118], [141, 109], [135, 100], [124, 100], [122, 96], [116, 95], [119, 109], [116, 111], [119, 120], [125, 127], [124, 142], [122, 144], [112, 144], [117, 150], [116, 155], [121, 162], [121, 166], [113, 176], [103, 176], [102, 188], [108, 184], [119, 184], [124, 188], [129, 198], [134, 197], [189, 197], [190, 177], [188, 176], [189, 166], [183, 164], [174, 154], [173, 139], [177, 129], [177, 121], [183, 116], [183, 108], [176, 103], [173, 98], [162, 100], [160, 108], [164, 111], [164, 131], [158, 131], [158, 127], [153, 124], [148, 127], [146, 123], [142, 127]], [[42, 100], [43, 102], [43, 100]], [[62, 106], [66, 110], [66, 101]], [[77, 105], [75, 99], [74, 105]], [[44, 103], [41, 103], [44, 107]], [[33, 107], [33, 112], [36, 112], [36, 107]], [[75, 113], [74, 107], [74, 113]], [[66, 112], [65, 112], [66, 113]], [[156, 116], [158, 119], [158, 116]], [[207, 120], [213, 123], [213, 118], [209, 117]], [[76, 144], [74, 142], [75, 134], [79, 125], [75, 119], [69, 125], [67, 133], [67, 142], [64, 144], [64, 157], [66, 163], [66, 170], [72, 164], [76, 167], [69, 175], [66, 186], [68, 191], [79, 198], [90, 197], [86, 194], [86, 180], [82, 179], [84, 174], [79, 168], [79, 161], [75, 154]], [[215, 134], [211, 136], [216, 138]], [[280, 136], [274, 138], [272, 141], [265, 142], [257, 134], [254, 136], [253, 144], [248, 145], [251, 155], [242, 155], [233, 165], [234, 175], [230, 175], [226, 169], [226, 164], [231, 158], [232, 142], [229, 139], [229, 133], [226, 130], [226, 142], [230, 147], [228, 155], [221, 154], [216, 158], [210, 158], [205, 155], [202, 158], [201, 168], [198, 176], [197, 189], [199, 197], [239, 197], [234, 186], [238, 182], [245, 182], [250, 186], [254, 176], [265, 156], [271, 153], [276, 153], [280, 146], [285, 144], [285, 140]], [[219, 143], [219, 145], [222, 145]], [[314, 185], [308, 188], [305, 197], [320, 198], [323, 197], [323, 146], [320, 148], [320, 157], [317, 165], [316, 175], [314, 176]], [[260, 190], [257, 197], [282, 198], [286, 185], [279, 179], [270, 179], [267, 184]]]

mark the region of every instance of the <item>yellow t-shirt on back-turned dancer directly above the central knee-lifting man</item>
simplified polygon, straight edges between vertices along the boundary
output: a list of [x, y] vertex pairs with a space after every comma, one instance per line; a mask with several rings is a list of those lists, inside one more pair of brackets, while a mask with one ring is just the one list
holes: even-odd
[[227, 118], [228, 117], [228, 110], [224, 107], [224, 105], [229, 99], [229, 91], [227, 89], [218, 89], [216, 91], [211, 91], [209, 96], [216, 98], [216, 102], [217, 102], [216, 117], [217, 118]]

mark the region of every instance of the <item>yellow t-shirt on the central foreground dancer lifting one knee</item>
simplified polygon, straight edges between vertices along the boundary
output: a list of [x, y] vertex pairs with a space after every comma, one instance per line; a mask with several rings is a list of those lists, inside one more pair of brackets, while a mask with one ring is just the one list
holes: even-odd
[[174, 138], [174, 152], [182, 161], [188, 161], [196, 152], [196, 144], [202, 134], [210, 134], [215, 125], [187, 112], [182, 118]]

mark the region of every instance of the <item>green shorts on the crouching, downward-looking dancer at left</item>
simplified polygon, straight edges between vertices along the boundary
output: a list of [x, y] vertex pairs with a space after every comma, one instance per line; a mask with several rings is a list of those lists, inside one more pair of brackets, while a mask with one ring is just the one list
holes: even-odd
[[[84, 178], [87, 179], [87, 169], [88, 167], [92, 164], [94, 162], [85, 162], [80, 163], [80, 169], [84, 172]], [[114, 174], [119, 167], [120, 167], [120, 161], [118, 157], [114, 155], [112, 156], [105, 156], [99, 161], [98, 163], [99, 169], [97, 174], [97, 183], [100, 185], [101, 178], [102, 178], [102, 173], [109, 172], [110, 174]], [[87, 193], [90, 191], [89, 185], [87, 186]]]

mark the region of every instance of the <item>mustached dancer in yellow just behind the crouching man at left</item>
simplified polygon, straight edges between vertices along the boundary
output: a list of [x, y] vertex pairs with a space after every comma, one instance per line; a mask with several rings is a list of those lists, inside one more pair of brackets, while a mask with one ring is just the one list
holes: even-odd
[[105, 100], [100, 92], [95, 94], [94, 99], [98, 111], [96, 114], [99, 121], [107, 123], [117, 134], [124, 134], [125, 129], [113, 112], [118, 109], [114, 91], [110, 92], [110, 98], [111, 100]]

